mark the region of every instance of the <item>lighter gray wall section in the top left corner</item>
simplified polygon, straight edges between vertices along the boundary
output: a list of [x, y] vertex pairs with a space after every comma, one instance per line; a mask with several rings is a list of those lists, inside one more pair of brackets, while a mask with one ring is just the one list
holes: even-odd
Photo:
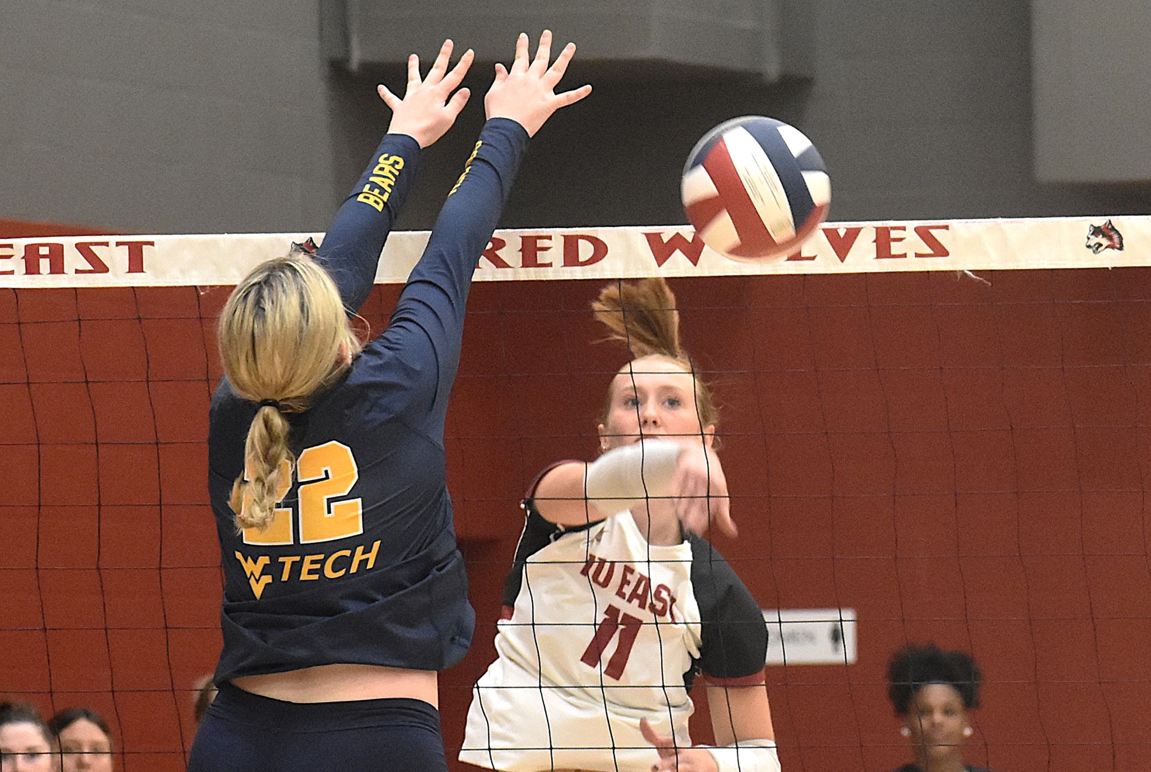
[[314, 0], [2, 0], [0, 217], [319, 227], [320, 59]]

